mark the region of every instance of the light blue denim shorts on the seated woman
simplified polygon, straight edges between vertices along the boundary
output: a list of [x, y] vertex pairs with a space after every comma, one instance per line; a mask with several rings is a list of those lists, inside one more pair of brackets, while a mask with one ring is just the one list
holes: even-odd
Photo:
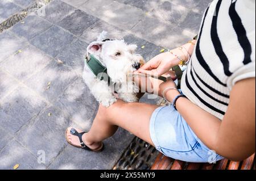
[[167, 157], [201, 163], [223, 159], [199, 140], [172, 106], [159, 107], [152, 113], [150, 136], [155, 148]]

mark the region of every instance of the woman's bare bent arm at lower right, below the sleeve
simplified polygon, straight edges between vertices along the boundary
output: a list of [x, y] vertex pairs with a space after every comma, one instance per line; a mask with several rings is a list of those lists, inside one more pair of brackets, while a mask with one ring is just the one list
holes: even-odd
[[[166, 97], [172, 102], [179, 94], [170, 90]], [[176, 108], [197, 137], [223, 157], [241, 161], [255, 152], [255, 78], [234, 85], [222, 121], [186, 98], [179, 98]]]

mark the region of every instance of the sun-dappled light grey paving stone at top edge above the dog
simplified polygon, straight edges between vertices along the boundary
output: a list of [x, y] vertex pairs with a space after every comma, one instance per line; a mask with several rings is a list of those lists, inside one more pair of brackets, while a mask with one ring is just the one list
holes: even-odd
[[111, 0], [102, 1], [101, 3], [88, 0], [79, 9], [125, 30], [130, 30], [141, 20], [141, 15], [144, 14], [142, 10], [136, 7]]

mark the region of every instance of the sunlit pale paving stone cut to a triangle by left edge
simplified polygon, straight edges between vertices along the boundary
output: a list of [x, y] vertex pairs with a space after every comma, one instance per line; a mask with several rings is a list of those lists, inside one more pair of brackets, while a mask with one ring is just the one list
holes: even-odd
[[26, 44], [27, 42], [14, 36], [9, 31], [0, 33], [0, 62], [26, 46]]

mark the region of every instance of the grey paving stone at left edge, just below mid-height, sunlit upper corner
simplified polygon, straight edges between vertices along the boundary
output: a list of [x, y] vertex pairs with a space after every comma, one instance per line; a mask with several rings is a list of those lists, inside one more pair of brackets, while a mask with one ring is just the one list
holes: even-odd
[[37, 116], [46, 105], [46, 102], [34, 92], [26, 87], [19, 86], [9, 96], [1, 100], [1, 126], [13, 134]]

